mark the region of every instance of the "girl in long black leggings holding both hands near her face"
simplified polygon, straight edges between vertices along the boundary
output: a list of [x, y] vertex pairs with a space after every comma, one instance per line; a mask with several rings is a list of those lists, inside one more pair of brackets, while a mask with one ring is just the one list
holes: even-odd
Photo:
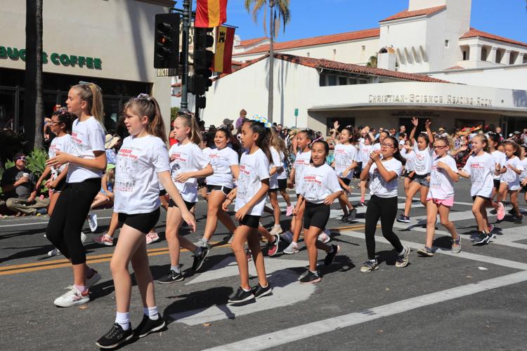
[[393, 136], [387, 136], [382, 142], [381, 152], [373, 151], [370, 160], [367, 161], [360, 173], [360, 180], [370, 178], [371, 194], [367, 204], [365, 223], [368, 260], [360, 267], [360, 272], [372, 272], [379, 268], [375, 258], [375, 230], [379, 218], [383, 237], [390, 242], [398, 253], [396, 267], [402, 268], [408, 265], [410, 248], [404, 247], [401, 240], [393, 232], [393, 223], [397, 216], [397, 180], [403, 172], [401, 159], [397, 139]]

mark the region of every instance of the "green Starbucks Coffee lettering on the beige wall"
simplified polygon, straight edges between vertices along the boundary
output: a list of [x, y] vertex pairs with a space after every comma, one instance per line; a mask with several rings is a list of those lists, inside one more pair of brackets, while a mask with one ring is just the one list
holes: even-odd
[[[25, 48], [9, 48], [6, 46], [0, 46], [0, 59], [10, 58], [11, 60], [22, 60], [25, 61]], [[53, 65], [62, 65], [64, 67], [86, 67], [89, 69], [103, 69], [103, 61], [100, 58], [89, 58], [86, 56], [67, 55], [65, 53], [51, 53], [48, 55], [45, 51], [42, 51], [42, 64], [46, 64], [49, 61]]]

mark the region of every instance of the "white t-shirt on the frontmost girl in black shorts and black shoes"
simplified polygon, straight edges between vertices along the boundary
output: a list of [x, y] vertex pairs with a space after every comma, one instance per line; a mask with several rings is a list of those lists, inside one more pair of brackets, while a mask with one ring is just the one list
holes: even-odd
[[155, 211], [160, 206], [157, 173], [169, 170], [169, 154], [163, 140], [153, 135], [124, 138], [115, 165], [114, 212]]

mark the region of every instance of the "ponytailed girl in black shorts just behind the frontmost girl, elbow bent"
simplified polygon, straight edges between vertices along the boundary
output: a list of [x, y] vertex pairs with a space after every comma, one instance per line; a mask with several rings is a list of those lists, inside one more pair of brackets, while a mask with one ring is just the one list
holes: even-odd
[[[169, 150], [170, 173], [186, 208], [191, 211], [197, 202], [197, 178], [211, 176], [214, 171], [209, 159], [198, 146], [202, 139], [194, 114], [179, 114], [174, 120], [174, 133], [178, 143], [172, 145]], [[186, 237], [179, 236], [179, 227], [183, 223], [181, 214], [181, 208], [176, 205], [174, 199], [170, 199], [165, 230], [169, 244], [170, 270], [167, 275], [157, 280], [159, 284], [171, 284], [185, 279], [179, 267], [180, 248], [194, 253], [193, 270], [200, 269], [209, 253], [207, 247], [196, 246]]]

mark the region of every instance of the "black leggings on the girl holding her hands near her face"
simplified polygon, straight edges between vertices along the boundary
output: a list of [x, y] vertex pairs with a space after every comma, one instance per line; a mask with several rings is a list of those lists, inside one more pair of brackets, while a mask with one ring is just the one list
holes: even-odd
[[396, 216], [397, 197], [383, 198], [373, 195], [367, 203], [365, 234], [367, 258], [369, 260], [375, 259], [375, 229], [379, 218], [381, 218], [382, 236], [390, 241], [398, 253], [403, 251], [401, 241], [393, 232], [393, 222], [395, 222]]

